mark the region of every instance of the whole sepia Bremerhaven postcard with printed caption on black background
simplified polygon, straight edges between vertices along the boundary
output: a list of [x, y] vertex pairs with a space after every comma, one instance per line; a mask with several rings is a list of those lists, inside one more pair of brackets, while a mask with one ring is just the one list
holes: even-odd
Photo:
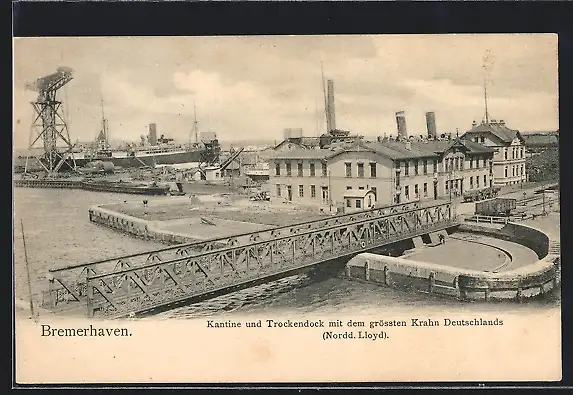
[[16, 381], [560, 380], [557, 45], [15, 38]]

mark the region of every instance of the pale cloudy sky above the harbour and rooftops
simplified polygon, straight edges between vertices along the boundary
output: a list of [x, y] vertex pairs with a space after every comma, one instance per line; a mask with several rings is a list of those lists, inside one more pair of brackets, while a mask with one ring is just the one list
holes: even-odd
[[[484, 70], [484, 56], [487, 68]], [[27, 82], [71, 67], [59, 92], [72, 141], [92, 141], [102, 106], [114, 141], [158, 135], [281, 141], [285, 128], [325, 131], [321, 62], [334, 80], [336, 126], [352, 134], [460, 134], [484, 117], [521, 131], [558, 126], [557, 35], [375, 35], [16, 38], [14, 147], [28, 145], [37, 93]], [[193, 138], [194, 140], [194, 138]]]

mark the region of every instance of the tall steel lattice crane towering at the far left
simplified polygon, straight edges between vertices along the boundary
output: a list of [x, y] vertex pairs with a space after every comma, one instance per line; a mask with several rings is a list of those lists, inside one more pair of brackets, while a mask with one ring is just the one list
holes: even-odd
[[[24, 173], [28, 172], [28, 161], [35, 157], [49, 176], [56, 174], [62, 166], [70, 170], [76, 169], [73, 147], [66, 121], [64, 119], [62, 102], [57, 99], [57, 92], [73, 79], [73, 70], [60, 67], [48, 76], [38, 78], [27, 84], [26, 89], [38, 92], [36, 101], [31, 102], [34, 108], [34, 121], [30, 128], [30, 144], [26, 157]], [[63, 147], [60, 144], [63, 142]], [[43, 152], [35, 155], [37, 144], [43, 143]]]

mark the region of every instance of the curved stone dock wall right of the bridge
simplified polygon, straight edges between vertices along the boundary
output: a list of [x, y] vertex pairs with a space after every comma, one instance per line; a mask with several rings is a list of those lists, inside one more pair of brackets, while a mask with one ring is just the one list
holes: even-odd
[[459, 230], [518, 242], [533, 249], [540, 259], [515, 270], [491, 273], [362, 253], [347, 263], [346, 274], [353, 279], [388, 287], [460, 300], [522, 300], [557, 287], [560, 281], [559, 255], [548, 254], [551, 240], [544, 232], [513, 223], [501, 230], [465, 224], [460, 225]]

